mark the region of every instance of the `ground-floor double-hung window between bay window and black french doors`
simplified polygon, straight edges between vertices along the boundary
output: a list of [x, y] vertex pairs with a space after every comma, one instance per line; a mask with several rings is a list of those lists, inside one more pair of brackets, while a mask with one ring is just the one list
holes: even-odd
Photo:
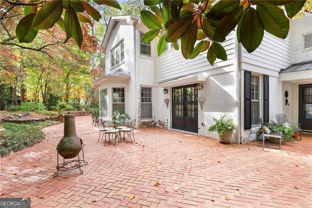
[[141, 87], [141, 119], [152, 119], [152, 87]]

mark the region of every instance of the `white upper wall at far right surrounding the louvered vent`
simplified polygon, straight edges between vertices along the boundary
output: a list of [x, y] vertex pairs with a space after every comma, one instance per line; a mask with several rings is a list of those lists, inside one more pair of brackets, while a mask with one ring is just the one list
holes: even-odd
[[312, 32], [312, 14], [291, 21], [292, 62], [300, 63], [312, 60], [312, 50], [303, 51], [303, 34]]

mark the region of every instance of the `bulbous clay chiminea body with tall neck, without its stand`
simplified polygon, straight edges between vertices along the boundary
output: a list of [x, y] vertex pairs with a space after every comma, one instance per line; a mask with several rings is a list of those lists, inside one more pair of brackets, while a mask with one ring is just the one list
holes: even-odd
[[64, 136], [59, 141], [57, 150], [64, 159], [77, 157], [82, 149], [82, 140], [76, 134], [75, 115], [64, 115]]

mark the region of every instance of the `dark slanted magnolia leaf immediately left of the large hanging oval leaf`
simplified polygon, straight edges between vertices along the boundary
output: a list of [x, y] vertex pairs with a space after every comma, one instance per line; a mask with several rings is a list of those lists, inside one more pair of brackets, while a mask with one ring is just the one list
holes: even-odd
[[243, 7], [240, 6], [225, 15], [215, 28], [215, 40], [222, 39], [229, 35], [236, 27], [242, 13]]

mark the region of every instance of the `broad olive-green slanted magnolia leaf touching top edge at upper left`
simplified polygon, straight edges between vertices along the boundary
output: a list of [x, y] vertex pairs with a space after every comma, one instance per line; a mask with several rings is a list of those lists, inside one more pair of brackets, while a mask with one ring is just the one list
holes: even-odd
[[54, 0], [45, 4], [37, 12], [33, 22], [33, 27], [36, 30], [49, 29], [59, 21], [63, 12], [63, 1]]

